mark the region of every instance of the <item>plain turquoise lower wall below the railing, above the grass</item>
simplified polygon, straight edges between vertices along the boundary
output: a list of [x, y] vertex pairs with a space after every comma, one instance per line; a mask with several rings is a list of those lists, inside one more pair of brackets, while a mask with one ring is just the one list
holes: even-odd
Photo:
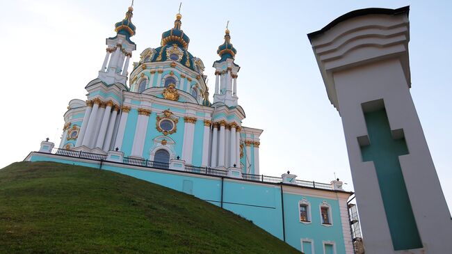
[[[73, 158], [58, 159], [56, 156], [33, 154], [31, 161], [56, 161], [65, 164], [75, 164], [99, 168], [99, 162], [92, 163], [72, 161]], [[214, 205], [221, 205], [221, 179], [217, 177], [198, 177], [188, 173], [155, 172], [136, 170], [119, 166], [103, 165], [102, 169], [111, 170], [124, 175], [130, 175], [141, 180], [167, 186], [177, 191], [184, 191]], [[322, 193], [324, 191], [320, 191]], [[323, 241], [334, 241], [336, 253], [344, 254], [344, 236], [341, 230], [339, 202], [334, 199], [301, 196], [284, 193], [284, 225], [286, 242], [301, 251], [303, 238], [314, 240], [315, 253], [323, 253]], [[300, 223], [298, 202], [306, 198], [311, 204], [312, 223]], [[323, 200], [331, 205], [332, 226], [321, 225], [320, 207]], [[223, 208], [243, 216], [271, 233], [283, 239], [282, 231], [282, 200], [279, 184], [260, 184], [233, 179], [224, 179]], [[350, 237], [350, 236], [346, 236]]]

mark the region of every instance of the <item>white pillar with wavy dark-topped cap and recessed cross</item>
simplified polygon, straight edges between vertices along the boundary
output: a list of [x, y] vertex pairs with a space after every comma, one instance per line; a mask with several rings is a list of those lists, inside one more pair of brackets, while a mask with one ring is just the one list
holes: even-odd
[[344, 126], [366, 253], [450, 253], [452, 220], [410, 95], [409, 8], [310, 33]]

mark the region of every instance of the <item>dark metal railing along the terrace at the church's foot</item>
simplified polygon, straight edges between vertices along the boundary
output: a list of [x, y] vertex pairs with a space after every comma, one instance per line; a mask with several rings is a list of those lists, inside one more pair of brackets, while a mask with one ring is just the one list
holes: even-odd
[[[52, 150], [52, 153], [67, 156], [67, 157], [92, 159], [92, 160], [96, 160], [96, 161], [106, 161], [106, 157], [107, 157], [105, 154], [95, 154], [95, 153], [91, 153], [91, 152], [65, 150], [65, 149], [60, 149], [60, 148], [54, 148], [54, 150]], [[157, 169], [164, 169], [164, 170], [171, 170], [171, 171], [179, 171], [179, 170], [171, 169], [170, 164], [165, 163], [165, 162], [150, 161], [147, 159], [136, 159], [133, 157], [124, 157], [122, 159], [122, 164], [142, 166], [142, 167], [146, 167], [146, 168], [157, 168]], [[201, 175], [211, 175], [211, 176], [215, 176], [215, 177], [227, 177], [227, 171], [215, 169], [215, 168], [209, 168], [209, 167], [197, 167], [197, 166], [186, 165], [184, 168], [184, 172], [196, 173], [196, 174], [201, 174]], [[254, 174], [242, 173], [242, 180], [252, 181], [252, 182], [264, 182], [264, 183], [270, 183], [270, 184], [279, 184], [282, 182], [282, 177], [273, 177], [273, 176], [268, 176], [268, 175], [254, 175]], [[333, 189], [331, 184], [324, 184], [321, 182], [309, 182], [309, 181], [303, 181], [303, 180], [296, 180], [294, 185], [308, 187], [308, 188], [316, 188], [316, 189], [326, 189], [326, 190]]]

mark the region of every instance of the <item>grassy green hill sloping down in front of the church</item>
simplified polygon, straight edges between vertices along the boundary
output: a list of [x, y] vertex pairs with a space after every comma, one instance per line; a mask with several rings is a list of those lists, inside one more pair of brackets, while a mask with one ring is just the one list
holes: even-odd
[[185, 193], [106, 170], [18, 162], [0, 170], [0, 253], [300, 252]]

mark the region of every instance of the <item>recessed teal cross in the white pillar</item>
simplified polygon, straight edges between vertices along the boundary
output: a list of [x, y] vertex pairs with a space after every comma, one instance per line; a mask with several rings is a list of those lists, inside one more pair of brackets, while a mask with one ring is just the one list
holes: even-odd
[[[409, 154], [405, 138], [394, 140], [385, 109], [364, 113], [370, 145], [362, 161], [373, 161], [394, 250], [421, 248], [421, 238], [398, 157]], [[371, 201], [371, 200], [369, 200]]]

